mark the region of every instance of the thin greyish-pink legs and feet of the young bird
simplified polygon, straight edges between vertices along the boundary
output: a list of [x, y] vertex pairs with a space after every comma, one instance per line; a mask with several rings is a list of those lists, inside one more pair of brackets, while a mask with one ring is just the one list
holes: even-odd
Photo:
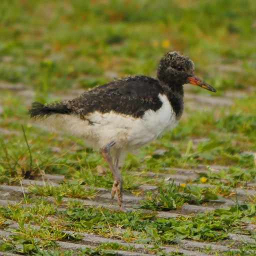
[[118, 169], [118, 158], [119, 157], [118, 156], [115, 157], [114, 164], [113, 164], [112, 157], [109, 153], [110, 147], [112, 145], [114, 145], [114, 142], [108, 143], [105, 147], [103, 147], [101, 149], [101, 153], [102, 153], [102, 156], [104, 157], [104, 159], [106, 160], [106, 162], [112, 172], [112, 175], [113, 175], [113, 186], [112, 186], [112, 190], [111, 190], [111, 196], [112, 196], [112, 198], [114, 198], [114, 194], [116, 193], [119, 209], [121, 211], [127, 211], [125, 209], [125, 207], [123, 206], [123, 202], [122, 202], [122, 176]]

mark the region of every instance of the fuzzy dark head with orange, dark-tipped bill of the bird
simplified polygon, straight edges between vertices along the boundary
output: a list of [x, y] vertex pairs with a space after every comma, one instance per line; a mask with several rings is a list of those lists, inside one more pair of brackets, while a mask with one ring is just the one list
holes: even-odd
[[182, 87], [182, 84], [191, 83], [216, 92], [212, 86], [194, 75], [193, 61], [178, 51], [164, 54], [157, 69], [157, 77], [160, 81], [169, 84], [171, 87]]

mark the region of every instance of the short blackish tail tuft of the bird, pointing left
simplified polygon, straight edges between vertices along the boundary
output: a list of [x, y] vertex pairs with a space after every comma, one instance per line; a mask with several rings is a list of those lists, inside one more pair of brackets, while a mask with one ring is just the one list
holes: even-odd
[[30, 118], [39, 119], [47, 117], [51, 114], [70, 114], [72, 110], [63, 102], [42, 104], [40, 102], [33, 102], [32, 107], [28, 110]]

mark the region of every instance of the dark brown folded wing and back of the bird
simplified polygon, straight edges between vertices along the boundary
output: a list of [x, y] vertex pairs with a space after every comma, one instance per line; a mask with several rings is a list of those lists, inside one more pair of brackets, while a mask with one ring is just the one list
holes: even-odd
[[158, 94], [162, 89], [154, 78], [142, 75], [115, 80], [85, 91], [77, 98], [68, 100], [67, 107], [72, 112], [85, 116], [111, 110], [133, 117], [141, 117], [148, 109], [156, 111], [162, 105]]

